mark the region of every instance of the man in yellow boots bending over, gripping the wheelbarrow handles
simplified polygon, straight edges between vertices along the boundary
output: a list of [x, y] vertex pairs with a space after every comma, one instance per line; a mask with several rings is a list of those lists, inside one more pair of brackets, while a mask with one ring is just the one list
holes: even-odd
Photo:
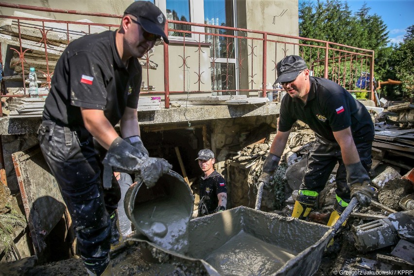
[[339, 162], [336, 173], [336, 199], [328, 225], [345, 210], [351, 197], [369, 205], [373, 190], [368, 186], [374, 125], [363, 104], [342, 86], [312, 77], [305, 61], [296, 55], [283, 58], [276, 65], [277, 79], [290, 97], [280, 105], [278, 131], [263, 164], [259, 182], [269, 185], [280, 161], [293, 123], [297, 120], [315, 132], [305, 176], [298, 192], [292, 216], [306, 219], [317, 195]]

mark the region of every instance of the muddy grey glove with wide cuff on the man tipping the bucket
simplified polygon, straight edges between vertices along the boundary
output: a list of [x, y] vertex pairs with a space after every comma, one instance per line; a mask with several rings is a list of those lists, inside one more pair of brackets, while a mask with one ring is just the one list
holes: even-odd
[[105, 189], [112, 186], [114, 169], [121, 173], [139, 173], [139, 177], [145, 185], [152, 188], [161, 175], [168, 173], [173, 168], [167, 160], [148, 157], [147, 154], [133, 147], [121, 137], [116, 138], [109, 146], [102, 163], [104, 164]]

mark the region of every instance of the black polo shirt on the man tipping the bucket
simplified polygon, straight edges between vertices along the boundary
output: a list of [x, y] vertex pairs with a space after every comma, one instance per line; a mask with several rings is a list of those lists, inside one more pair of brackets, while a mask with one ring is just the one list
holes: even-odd
[[43, 120], [84, 126], [81, 107], [104, 110], [115, 126], [125, 107], [137, 108], [142, 69], [137, 58], [128, 67], [115, 45], [115, 31], [72, 41], [59, 58], [46, 99]]

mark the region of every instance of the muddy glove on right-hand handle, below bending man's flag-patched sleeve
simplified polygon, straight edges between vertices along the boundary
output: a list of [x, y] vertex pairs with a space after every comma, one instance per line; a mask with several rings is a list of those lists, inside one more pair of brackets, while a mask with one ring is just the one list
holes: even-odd
[[369, 187], [371, 180], [361, 162], [346, 166], [346, 180], [351, 190], [351, 198], [356, 197], [361, 206], [371, 204], [374, 189]]

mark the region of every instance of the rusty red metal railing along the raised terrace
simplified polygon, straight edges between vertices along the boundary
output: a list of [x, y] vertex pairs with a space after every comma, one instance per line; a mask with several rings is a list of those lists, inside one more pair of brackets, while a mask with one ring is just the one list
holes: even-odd
[[[0, 6], [87, 17], [122, 17], [1, 2]], [[0, 18], [10, 20], [7, 28], [0, 29], [0, 46], [7, 43], [8, 51], [13, 52], [13, 57], [6, 58], [3, 64], [0, 97], [28, 96], [29, 67], [36, 68], [40, 86], [47, 92], [54, 65], [70, 41], [119, 27], [119, 24], [43, 18]], [[290, 54], [302, 56], [314, 76], [328, 78], [350, 92], [363, 92], [367, 99], [374, 100], [374, 51], [292, 35], [174, 20], [167, 22], [165, 32], [171, 43], [155, 48], [155, 52], [162, 49], [163, 56], [147, 53], [139, 59], [143, 82], [147, 84], [141, 86], [141, 93], [163, 95], [166, 108], [170, 106], [170, 95], [175, 93], [187, 96], [202, 92], [213, 95], [242, 93], [266, 97], [267, 92], [273, 91], [276, 63]], [[0, 50], [0, 58], [5, 54]], [[371, 77], [365, 79], [368, 74]], [[6, 82], [14, 82], [8, 84], [9, 93]], [[16, 88], [13, 90], [11, 86]], [[160, 86], [163, 89], [155, 89]], [[10, 90], [13, 91], [10, 93]]]

